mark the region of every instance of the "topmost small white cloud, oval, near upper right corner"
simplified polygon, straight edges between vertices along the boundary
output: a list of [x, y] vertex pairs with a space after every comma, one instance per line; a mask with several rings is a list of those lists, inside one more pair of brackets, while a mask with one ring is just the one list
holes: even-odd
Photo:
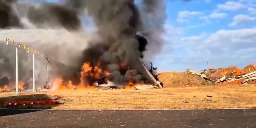
[[230, 2], [226, 2], [225, 4], [218, 4], [218, 9], [237, 11], [241, 9], [246, 9], [246, 5], [242, 3], [230, 1]]

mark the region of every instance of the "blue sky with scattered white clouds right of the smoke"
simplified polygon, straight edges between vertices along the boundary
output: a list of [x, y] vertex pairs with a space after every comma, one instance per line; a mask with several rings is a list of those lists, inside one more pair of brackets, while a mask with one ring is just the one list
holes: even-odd
[[256, 0], [164, 1], [164, 46], [151, 60], [159, 71], [256, 63]]

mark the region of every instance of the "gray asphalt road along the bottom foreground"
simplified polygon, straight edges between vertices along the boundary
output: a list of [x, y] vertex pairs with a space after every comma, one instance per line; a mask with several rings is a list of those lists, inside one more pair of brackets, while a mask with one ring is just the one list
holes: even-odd
[[1, 128], [256, 128], [256, 109], [10, 110]]

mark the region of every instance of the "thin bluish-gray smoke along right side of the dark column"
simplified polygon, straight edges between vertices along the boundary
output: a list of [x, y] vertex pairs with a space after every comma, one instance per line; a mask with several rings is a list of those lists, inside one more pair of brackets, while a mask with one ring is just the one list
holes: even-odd
[[152, 59], [152, 56], [154, 57], [162, 50], [166, 7], [163, 0], [142, 0], [142, 2], [140, 13], [143, 28], [141, 34], [150, 42], [145, 56]]

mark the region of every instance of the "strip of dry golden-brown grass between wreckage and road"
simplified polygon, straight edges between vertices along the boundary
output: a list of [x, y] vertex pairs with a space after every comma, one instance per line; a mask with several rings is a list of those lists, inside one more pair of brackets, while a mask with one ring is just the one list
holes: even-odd
[[[35, 95], [33, 99], [61, 97], [64, 103], [52, 109], [203, 109], [256, 107], [256, 86], [197, 86], [154, 90], [65, 90]], [[206, 98], [211, 95], [212, 98]], [[0, 93], [3, 101], [12, 101], [15, 93]], [[47, 96], [47, 97], [45, 97]], [[5, 98], [6, 97], [6, 98]], [[9, 97], [9, 98], [7, 98]], [[22, 99], [17, 96], [15, 100]], [[29, 96], [26, 96], [28, 100]], [[24, 97], [23, 97], [24, 99]], [[188, 103], [183, 103], [186, 100]], [[1, 101], [0, 101], [0, 104]], [[37, 106], [38, 107], [38, 106]]]

